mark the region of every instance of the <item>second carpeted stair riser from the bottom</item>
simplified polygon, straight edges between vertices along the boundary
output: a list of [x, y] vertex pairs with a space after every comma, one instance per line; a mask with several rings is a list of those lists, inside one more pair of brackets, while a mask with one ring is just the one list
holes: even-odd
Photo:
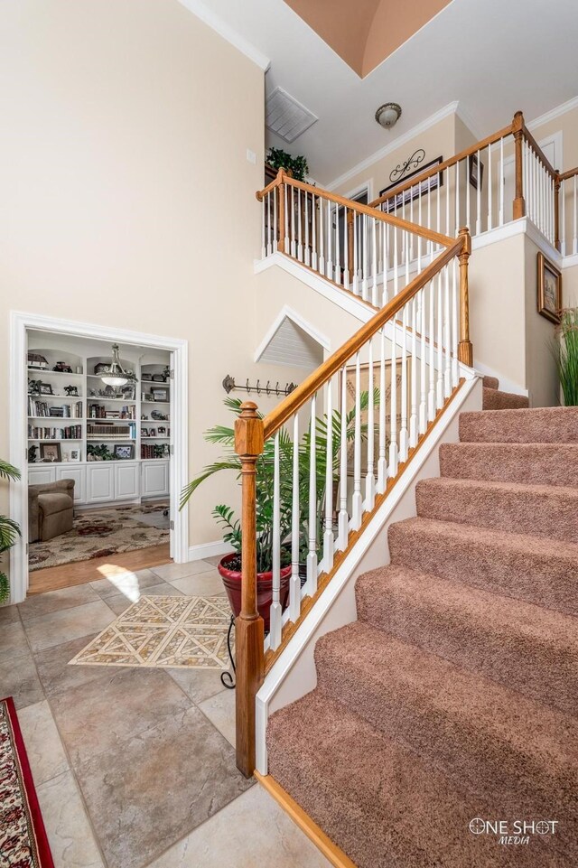
[[[520, 803], [530, 815], [540, 817], [556, 805], [568, 824], [561, 843], [566, 849], [572, 845], [574, 836], [568, 833], [578, 819], [573, 798], [578, 789], [575, 765], [564, 769], [558, 762], [551, 769], [541, 757], [534, 760], [499, 734], [477, 727], [460, 709], [448, 708], [443, 700], [438, 705], [421, 685], [395, 667], [357, 671], [340, 656], [339, 649], [335, 643], [317, 644], [315, 660], [322, 691], [443, 768], [459, 789], [499, 798], [508, 816]], [[578, 855], [578, 845], [574, 852]]]

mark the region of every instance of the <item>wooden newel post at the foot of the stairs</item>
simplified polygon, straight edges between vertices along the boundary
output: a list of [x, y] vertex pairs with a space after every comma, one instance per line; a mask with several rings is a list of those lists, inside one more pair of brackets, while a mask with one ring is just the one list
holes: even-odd
[[263, 420], [246, 401], [235, 423], [235, 452], [241, 459], [241, 612], [235, 623], [237, 663], [237, 767], [246, 778], [255, 770], [255, 697], [264, 677], [263, 619], [256, 609], [256, 460], [263, 453]]

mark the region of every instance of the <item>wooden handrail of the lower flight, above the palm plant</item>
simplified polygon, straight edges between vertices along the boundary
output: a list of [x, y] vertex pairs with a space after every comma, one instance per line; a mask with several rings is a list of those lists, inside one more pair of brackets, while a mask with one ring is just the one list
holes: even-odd
[[[339, 350], [336, 350], [329, 359], [326, 359], [322, 365], [303, 380], [303, 383], [298, 386], [290, 395], [266, 415], [264, 420], [264, 438], [267, 440], [272, 437], [276, 431], [290, 419], [315, 392], [317, 392], [331, 377], [339, 371], [343, 365], [355, 355], [367, 341], [372, 338], [379, 329], [391, 320], [396, 313], [409, 302], [420, 289], [423, 289], [432, 278], [452, 261], [455, 256], [460, 256], [464, 250], [470, 254], [470, 233], [467, 229], [461, 229], [460, 235], [452, 242], [451, 247], [447, 247], [443, 252], [436, 257], [433, 262], [424, 268], [424, 271], [415, 277], [405, 289], [401, 290], [389, 303], [386, 304], [376, 315], [362, 325], [359, 331], [350, 338], [347, 343], [344, 343]], [[466, 260], [467, 265], [467, 260]], [[467, 289], [467, 281], [465, 284]], [[467, 332], [466, 332], [467, 333]], [[469, 341], [469, 335], [466, 339]]]

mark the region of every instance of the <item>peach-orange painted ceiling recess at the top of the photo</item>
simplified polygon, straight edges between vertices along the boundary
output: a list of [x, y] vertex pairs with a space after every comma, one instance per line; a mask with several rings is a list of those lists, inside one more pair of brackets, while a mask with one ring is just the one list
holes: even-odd
[[451, 0], [285, 0], [361, 78]]

